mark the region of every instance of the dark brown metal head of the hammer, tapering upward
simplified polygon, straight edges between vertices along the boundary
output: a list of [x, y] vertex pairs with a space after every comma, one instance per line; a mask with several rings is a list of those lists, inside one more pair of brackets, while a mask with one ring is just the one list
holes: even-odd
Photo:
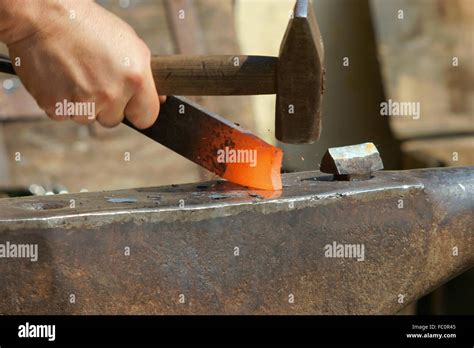
[[308, 0], [296, 2], [280, 47], [275, 133], [291, 144], [314, 143], [321, 134], [324, 48]]

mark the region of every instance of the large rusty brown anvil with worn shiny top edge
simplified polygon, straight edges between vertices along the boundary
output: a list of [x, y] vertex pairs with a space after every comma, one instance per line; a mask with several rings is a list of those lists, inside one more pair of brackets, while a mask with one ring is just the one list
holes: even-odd
[[[330, 178], [0, 200], [0, 243], [39, 249], [0, 259], [0, 312], [395, 313], [473, 266], [474, 167]], [[365, 259], [325, 257], [333, 242]]]

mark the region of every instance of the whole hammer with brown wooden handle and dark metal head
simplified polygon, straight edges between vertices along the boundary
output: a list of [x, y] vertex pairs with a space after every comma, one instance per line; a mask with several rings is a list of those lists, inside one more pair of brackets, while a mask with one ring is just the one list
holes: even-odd
[[298, 0], [279, 57], [154, 56], [160, 95], [277, 95], [276, 138], [314, 143], [321, 133], [323, 42], [311, 2]]

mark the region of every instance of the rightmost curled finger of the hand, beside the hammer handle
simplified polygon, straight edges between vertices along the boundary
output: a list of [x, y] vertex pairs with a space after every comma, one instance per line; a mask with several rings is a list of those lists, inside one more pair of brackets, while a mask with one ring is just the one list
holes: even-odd
[[143, 87], [139, 88], [125, 108], [125, 117], [139, 129], [151, 127], [160, 112], [160, 99], [156, 92], [151, 70], [147, 73]]

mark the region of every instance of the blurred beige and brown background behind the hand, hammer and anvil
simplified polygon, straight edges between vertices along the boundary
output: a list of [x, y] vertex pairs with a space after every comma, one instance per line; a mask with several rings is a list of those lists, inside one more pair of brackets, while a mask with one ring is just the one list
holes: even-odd
[[[278, 56], [294, 6], [290, 0], [98, 2], [127, 21], [154, 54]], [[386, 169], [474, 165], [474, 1], [313, 5], [325, 45], [323, 132], [313, 145], [278, 144], [285, 151], [285, 171], [318, 169], [328, 147], [368, 141], [377, 145]], [[7, 52], [0, 46], [0, 53]], [[213, 178], [126, 126], [50, 121], [17, 78], [0, 74], [0, 83], [0, 195]], [[275, 96], [192, 99], [277, 143]], [[380, 103], [388, 99], [419, 102], [421, 117], [381, 116]], [[473, 314], [473, 293], [471, 270], [403, 313]]]

